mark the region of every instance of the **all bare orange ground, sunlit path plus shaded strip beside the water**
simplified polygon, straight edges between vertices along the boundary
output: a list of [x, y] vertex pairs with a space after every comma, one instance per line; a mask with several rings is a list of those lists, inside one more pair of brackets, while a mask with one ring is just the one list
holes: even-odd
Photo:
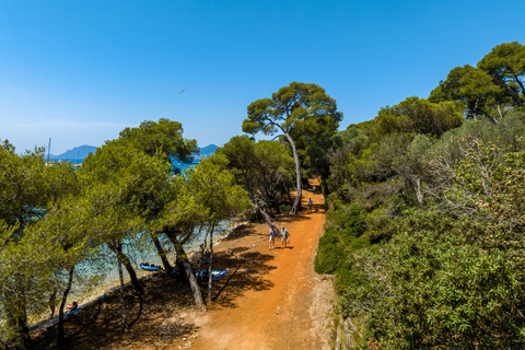
[[120, 306], [113, 298], [67, 322], [66, 346], [55, 343], [49, 328], [36, 335], [36, 347], [329, 349], [332, 284], [313, 269], [325, 221], [323, 196], [305, 190], [303, 205], [300, 214], [276, 219], [290, 232], [289, 248], [278, 237], [276, 249], [268, 249], [265, 223], [244, 225], [214, 247], [215, 269], [229, 272], [215, 282], [207, 313], [195, 310], [189, 288], [159, 276], [144, 281], [144, 296], [128, 293], [128, 334], [120, 332]]

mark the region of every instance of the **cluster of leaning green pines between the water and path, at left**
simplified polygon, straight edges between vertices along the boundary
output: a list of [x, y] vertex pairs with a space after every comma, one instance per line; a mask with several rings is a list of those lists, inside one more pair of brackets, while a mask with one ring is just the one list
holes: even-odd
[[[194, 140], [182, 137], [180, 124], [167, 119], [124, 130], [77, 171], [68, 163], [49, 166], [43, 150], [20, 155], [9, 142], [2, 144], [0, 327], [5, 346], [31, 349], [30, 316], [58, 302], [58, 341], [65, 340], [63, 312], [71, 285], [86, 282], [79, 280], [80, 266], [88, 264], [96, 271], [104, 261], [116, 261], [120, 294], [122, 266], [142, 294], [129, 253], [148, 245], [159, 250], [167, 276], [184, 273], [197, 306], [206, 310], [183, 245], [200, 228], [212, 249], [219, 222], [243, 214], [250, 205], [233, 175], [212, 162], [205, 160], [183, 175], [173, 174], [172, 159], [187, 162], [195, 148]], [[176, 266], [182, 267], [175, 270], [178, 275], [166, 259], [161, 235], [173, 244]], [[97, 280], [93, 273], [89, 285]], [[211, 278], [208, 289], [211, 301]], [[126, 331], [124, 300], [121, 305]]]

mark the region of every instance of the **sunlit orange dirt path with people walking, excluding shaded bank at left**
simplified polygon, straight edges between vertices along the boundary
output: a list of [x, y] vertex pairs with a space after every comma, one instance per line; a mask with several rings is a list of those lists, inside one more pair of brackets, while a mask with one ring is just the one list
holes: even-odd
[[[312, 213], [306, 206], [308, 198], [314, 202]], [[201, 327], [191, 349], [327, 348], [330, 282], [313, 271], [324, 221], [320, 191], [306, 190], [301, 214], [276, 222], [289, 230], [289, 248], [281, 248], [281, 240], [277, 238], [276, 249], [270, 252], [268, 226], [255, 225], [252, 236], [258, 237], [257, 243], [246, 249], [233, 248], [234, 254], [245, 258], [244, 266], [235, 272], [240, 278], [236, 282], [250, 278], [246, 282], [256, 281], [255, 287], [238, 295], [231, 295], [224, 289], [214, 310], [202, 319], [195, 319]], [[225, 245], [228, 242], [221, 248], [228, 248]], [[250, 256], [254, 264], [249, 262]]]

